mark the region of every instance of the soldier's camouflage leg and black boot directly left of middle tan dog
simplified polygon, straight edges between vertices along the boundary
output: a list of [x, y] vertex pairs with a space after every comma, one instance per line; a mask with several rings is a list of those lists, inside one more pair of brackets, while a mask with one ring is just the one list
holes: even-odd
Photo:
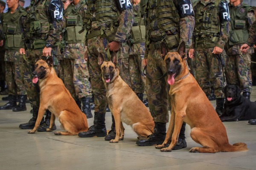
[[87, 54], [88, 54], [88, 70], [91, 80], [91, 88], [94, 93], [94, 121], [93, 126], [87, 132], [78, 134], [80, 137], [106, 136], [107, 130], [105, 126], [106, 113], [106, 89], [102, 81], [102, 73], [98, 64], [99, 53], [105, 55], [105, 47], [108, 45], [108, 40], [101, 37], [93, 37], [88, 40]]

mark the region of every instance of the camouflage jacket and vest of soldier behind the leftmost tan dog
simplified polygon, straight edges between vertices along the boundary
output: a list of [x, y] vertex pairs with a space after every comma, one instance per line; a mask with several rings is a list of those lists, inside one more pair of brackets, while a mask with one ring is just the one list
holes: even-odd
[[[44, 6], [41, 7], [40, 10], [37, 10], [37, 14], [35, 14], [35, 9], [42, 4], [44, 4]], [[56, 42], [60, 41], [63, 21], [50, 20], [49, 4], [50, 0], [38, 0], [36, 2], [35, 0], [31, 0], [26, 20], [26, 31], [22, 37], [24, 48], [26, 48], [26, 44], [33, 44], [33, 42], [36, 40], [42, 40], [45, 43], [50, 43], [53, 46], [56, 46]], [[37, 20], [38, 15], [39, 20]], [[41, 18], [44, 16], [47, 17]], [[35, 21], [37, 21], [37, 23], [35, 23]], [[44, 47], [42, 46], [42, 48]]]

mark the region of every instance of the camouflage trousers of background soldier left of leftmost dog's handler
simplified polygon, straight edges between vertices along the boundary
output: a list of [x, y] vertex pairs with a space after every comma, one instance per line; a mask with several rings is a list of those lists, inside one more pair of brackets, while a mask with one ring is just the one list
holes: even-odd
[[[6, 51], [6, 57], [16, 56], [21, 57], [19, 51]], [[21, 68], [21, 61], [6, 61], [6, 83], [11, 95], [26, 95], [25, 85], [23, 84], [23, 68]]]

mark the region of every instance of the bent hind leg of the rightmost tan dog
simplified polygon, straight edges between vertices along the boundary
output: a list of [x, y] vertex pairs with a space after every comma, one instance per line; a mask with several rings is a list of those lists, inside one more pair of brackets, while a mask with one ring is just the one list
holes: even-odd
[[[218, 152], [215, 148], [218, 148], [217, 144], [211, 139], [210, 136], [205, 134], [200, 128], [193, 127], [190, 133], [191, 138], [201, 144], [203, 147], [192, 147], [189, 152], [200, 153], [215, 153]], [[220, 136], [221, 137], [221, 136]]]

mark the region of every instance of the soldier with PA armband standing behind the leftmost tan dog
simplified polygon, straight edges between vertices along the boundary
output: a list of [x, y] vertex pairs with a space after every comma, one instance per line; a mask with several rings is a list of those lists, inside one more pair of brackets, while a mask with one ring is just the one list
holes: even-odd
[[[23, 48], [20, 54], [26, 54], [24, 83], [33, 108], [32, 119], [27, 123], [20, 124], [21, 129], [32, 129], [38, 116], [40, 105], [40, 90], [38, 77], [34, 77], [35, 59], [46, 60], [48, 56], [53, 57], [53, 67], [58, 74], [58, 43], [60, 43], [60, 32], [62, 27], [63, 3], [61, 0], [32, 0], [27, 15], [26, 31], [22, 37]], [[25, 51], [26, 49], [26, 51]], [[34, 82], [34, 83], [33, 83]], [[49, 127], [50, 112], [41, 121], [38, 131], [46, 131]], [[53, 128], [56, 129], [56, 126]]]

